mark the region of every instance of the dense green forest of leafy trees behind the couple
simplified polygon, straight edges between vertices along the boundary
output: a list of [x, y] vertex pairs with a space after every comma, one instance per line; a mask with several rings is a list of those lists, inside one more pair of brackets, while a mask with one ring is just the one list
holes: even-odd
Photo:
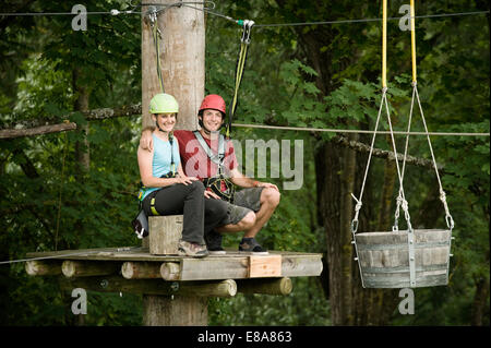
[[[408, 1], [390, 1], [402, 16]], [[488, 11], [416, 20], [418, 86], [430, 131], [490, 130], [489, 2], [415, 1], [416, 14]], [[256, 24], [380, 19], [381, 1], [215, 1], [215, 12]], [[74, 3], [73, 3], [74, 4]], [[0, 12], [71, 12], [64, 1], [8, 0]], [[87, 0], [87, 11], [130, 9]], [[77, 130], [0, 140], [0, 261], [32, 251], [137, 245], [141, 115], [94, 120], [87, 111], [141, 103], [141, 17], [0, 15], [0, 129], [62, 123]], [[396, 130], [410, 106], [410, 32], [388, 22], [388, 101]], [[241, 29], [206, 15], [206, 94], [230, 100]], [[236, 120], [240, 123], [373, 130], [381, 99], [381, 22], [254, 27]], [[144, 110], [145, 111], [145, 110]], [[131, 112], [130, 112], [131, 113]], [[133, 112], [134, 113], [134, 112]], [[386, 122], [380, 129], [385, 128]], [[421, 131], [415, 113], [414, 131]], [[287, 297], [211, 299], [211, 325], [489, 325], [489, 136], [433, 136], [456, 238], [446, 287], [415, 289], [415, 314], [397, 310], [398, 290], [362, 289], [352, 260], [352, 192], [358, 195], [368, 134], [235, 128], [244, 140], [303, 140], [303, 185], [282, 202], [260, 241], [268, 249], [323, 253], [321, 277], [294, 278]], [[355, 144], [349, 146], [349, 142]], [[397, 148], [404, 137], [397, 137]], [[375, 147], [390, 149], [378, 136]], [[409, 154], [429, 159], [426, 139]], [[267, 171], [270, 172], [270, 171]], [[279, 185], [286, 178], [259, 178]], [[395, 163], [372, 161], [359, 231], [390, 230], [398, 190]], [[406, 197], [416, 228], [444, 228], [431, 168], [408, 165]], [[238, 236], [225, 247], [236, 248]], [[0, 265], [2, 325], [140, 325], [142, 298], [88, 292], [88, 313], [56, 278], [29, 277], [23, 263]]]

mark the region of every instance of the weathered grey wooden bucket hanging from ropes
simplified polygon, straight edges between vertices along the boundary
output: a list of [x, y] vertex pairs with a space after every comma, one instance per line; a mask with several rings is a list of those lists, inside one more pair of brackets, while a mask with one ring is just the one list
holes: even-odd
[[410, 281], [408, 231], [356, 233], [364, 288], [415, 288], [448, 284], [451, 230], [414, 230], [414, 283]]

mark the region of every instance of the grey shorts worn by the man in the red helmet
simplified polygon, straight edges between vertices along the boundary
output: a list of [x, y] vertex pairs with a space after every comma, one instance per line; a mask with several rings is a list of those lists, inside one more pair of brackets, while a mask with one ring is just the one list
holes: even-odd
[[233, 204], [228, 203], [227, 216], [220, 225], [236, 225], [249, 214], [259, 212], [261, 208], [261, 192], [264, 188], [243, 189], [235, 193]]

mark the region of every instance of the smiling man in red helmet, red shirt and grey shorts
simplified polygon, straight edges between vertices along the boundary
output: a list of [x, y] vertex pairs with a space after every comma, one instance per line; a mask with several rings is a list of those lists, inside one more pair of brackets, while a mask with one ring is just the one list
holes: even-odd
[[[255, 236], [279, 204], [280, 193], [275, 184], [253, 180], [240, 172], [232, 143], [224, 141], [219, 133], [225, 123], [225, 111], [224, 99], [216, 94], [208, 95], [197, 113], [201, 129], [173, 132], [179, 140], [182, 167], [187, 176], [204, 181], [209, 195], [228, 205], [223, 226], [205, 236], [209, 253], [225, 253], [221, 233], [244, 231], [239, 251], [267, 254]], [[144, 130], [140, 140], [141, 146], [148, 151], [153, 147], [151, 134], [151, 130]], [[229, 182], [243, 189], [233, 193]]]

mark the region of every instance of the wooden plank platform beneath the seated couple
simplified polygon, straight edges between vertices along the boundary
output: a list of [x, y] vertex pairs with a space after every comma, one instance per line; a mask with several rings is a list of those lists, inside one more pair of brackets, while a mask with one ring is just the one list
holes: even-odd
[[[68, 277], [84, 276], [83, 273], [76, 273], [73, 269], [76, 264], [98, 264], [99, 267], [96, 268], [101, 269], [98, 271], [98, 274], [97, 272], [87, 274], [87, 276], [97, 276], [118, 274], [121, 272], [123, 264], [128, 262], [131, 262], [135, 267], [145, 267], [145, 269], [159, 267], [161, 278], [165, 280], [184, 281], [319, 276], [322, 272], [322, 254], [286, 251], [270, 251], [270, 254], [264, 256], [227, 251], [225, 255], [209, 255], [204, 259], [152, 255], [147, 250], [137, 247], [61, 250], [27, 254], [27, 257], [33, 259], [47, 256], [50, 259], [43, 260], [43, 262], [52, 264], [55, 268], [51, 268], [51, 272], [53, 274], [61, 274], [57, 269], [61, 268], [64, 261], [74, 261], [73, 264], [70, 264], [70, 267], [67, 263], [63, 265], [63, 274]], [[125, 266], [128, 268], [128, 264]], [[69, 268], [70, 274], [65, 273]], [[155, 275], [143, 275], [136, 278], [155, 278]]]

